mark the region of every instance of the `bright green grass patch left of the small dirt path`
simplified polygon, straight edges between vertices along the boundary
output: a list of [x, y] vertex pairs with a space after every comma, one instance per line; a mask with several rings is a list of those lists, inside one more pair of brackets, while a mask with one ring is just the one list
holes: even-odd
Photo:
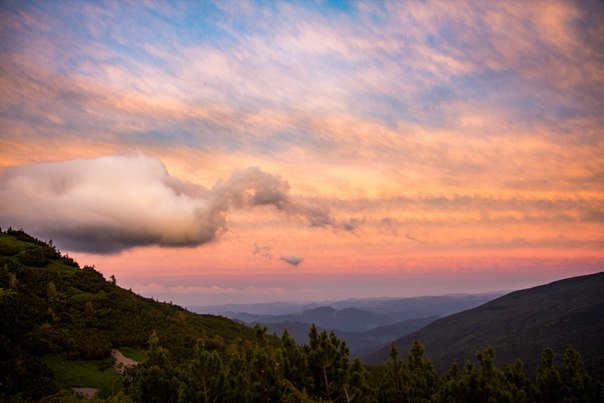
[[54, 372], [63, 389], [98, 388], [97, 397], [106, 399], [122, 389], [120, 374], [113, 370], [113, 359], [71, 361], [60, 354], [46, 354], [42, 360]]

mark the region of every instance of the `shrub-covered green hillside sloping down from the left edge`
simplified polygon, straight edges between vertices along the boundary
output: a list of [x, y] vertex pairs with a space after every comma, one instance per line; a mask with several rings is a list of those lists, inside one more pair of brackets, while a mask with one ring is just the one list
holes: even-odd
[[41, 359], [46, 354], [110, 358], [111, 348], [147, 349], [155, 331], [179, 363], [200, 338], [208, 346], [254, 338], [229, 319], [136, 295], [52, 244], [10, 229], [0, 232], [0, 318], [0, 393], [27, 398], [59, 388]]

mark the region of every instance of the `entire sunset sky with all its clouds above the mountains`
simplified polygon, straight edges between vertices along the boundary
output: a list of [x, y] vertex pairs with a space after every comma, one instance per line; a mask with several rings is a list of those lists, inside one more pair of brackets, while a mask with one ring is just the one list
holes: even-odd
[[183, 305], [604, 268], [600, 1], [2, 1], [0, 226]]

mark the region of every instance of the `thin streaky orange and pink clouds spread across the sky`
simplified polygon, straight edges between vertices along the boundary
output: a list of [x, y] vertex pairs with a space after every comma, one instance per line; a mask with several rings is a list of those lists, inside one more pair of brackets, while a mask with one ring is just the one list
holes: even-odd
[[[255, 243], [303, 256], [301, 281], [603, 260], [599, 3], [221, 3], [218, 41], [182, 35], [185, 4], [151, 5], [164, 18], [144, 23], [87, 5], [85, 32], [62, 7], [15, 7], [0, 10], [4, 174], [140, 151], [188, 188], [257, 166], [297, 203], [288, 219], [224, 211], [229, 231], [203, 248], [136, 248], [125, 265], [82, 255], [131, 284], [160, 284], [166, 257], [171, 274], [207, 276], [208, 293], [243, 292], [229, 276], [280, 278]], [[309, 228], [312, 213], [331, 227]]]

